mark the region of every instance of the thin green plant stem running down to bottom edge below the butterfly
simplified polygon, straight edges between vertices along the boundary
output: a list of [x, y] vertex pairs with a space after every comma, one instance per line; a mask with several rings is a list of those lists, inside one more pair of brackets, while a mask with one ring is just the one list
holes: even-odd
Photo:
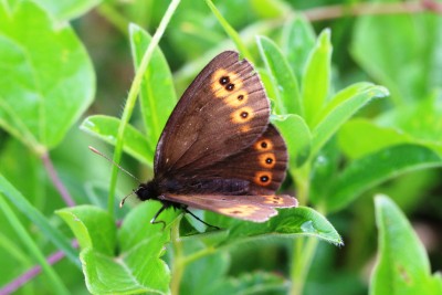
[[179, 235], [180, 219], [178, 219], [170, 229], [170, 239], [173, 247], [173, 264], [170, 281], [170, 293], [172, 295], [179, 294], [182, 274], [185, 272], [185, 256], [182, 251], [182, 242]]

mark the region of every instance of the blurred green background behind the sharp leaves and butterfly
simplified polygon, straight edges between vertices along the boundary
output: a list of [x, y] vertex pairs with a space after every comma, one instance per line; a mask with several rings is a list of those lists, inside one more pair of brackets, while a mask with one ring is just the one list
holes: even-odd
[[[38, 2], [51, 7], [51, 1]], [[127, 24], [137, 23], [154, 34], [169, 1], [84, 2], [85, 8], [80, 12], [53, 12], [54, 19], [71, 22], [93, 62], [96, 94], [94, 103], [83, 116], [105, 114], [119, 117], [134, 78]], [[428, 3], [427, 7], [423, 2]], [[256, 57], [255, 35], [266, 35], [280, 43], [284, 24], [298, 13], [311, 21], [316, 34], [329, 28], [334, 49], [332, 88], [337, 91], [355, 82], [369, 81], [390, 91], [391, 96], [367, 105], [330, 140], [329, 145], [339, 150], [336, 169], [372, 151], [371, 136], [381, 136], [377, 140], [380, 144], [383, 140], [386, 146], [394, 140], [420, 143], [441, 155], [442, 2], [222, 0], [213, 3]], [[439, 11], [431, 11], [432, 7]], [[403, 13], [404, 10], [407, 13]], [[370, 13], [372, 15], [368, 15]], [[181, 1], [159, 44], [173, 73], [178, 95], [215, 54], [234, 49], [206, 1], [200, 0]], [[256, 60], [261, 67], [262, 62]], [[135, 124], [137, 120], [138, 113], [133, 118]], [[105, 206], [110, 168], [102, 158], [90, 152], [87, 146], [96, 146], [107, 155], [112, 155], [113, 149], [81, 131], [78, 125], [80, 122], [51, 151], [52, 159], [77, 203]], [[123, 166], [141, 179], [151, 176], [149, 169], [128, 156], [124, 157]], [[53, 225], [71, 235], [69, 228], [53, 215], [53, 211], [63, 208], [64, 203], [54, 197], [57, 193], [39, 157], [1, 129], [0, 172], [35, 208], [46, 217], [52, 217], [50, 222]], [[367, 294], [377, 252], [372, 198], [376, 193], [388, 194], [404, 211], [429, 253], [432, 272], [441, 270], [441, 169], [413, 170], [400, 175], [364, 192], [340, 211], [327, 215], [343, 235], [345, 246], [319, 243], [304, 294]], [[325, 180], [319, 176], [316, 181]], [[134, 186], [136, 183], [131, 179], [119, 177], [118, 196], [126, 194]], [[118, 215], [123, 217], [126, 211], [119, 211]], [[46, 255], [56, 250], [32, 222], [21, 213], [18, 215]], [[2, 214], [0, 224], [0, 285], [4, 285], [34, 265], [34, 262], [18, 239], [15, 229]], [[229, 274], [239, 275], [251, 270], [287, 273], [290, 257], [286, 251], [282, 251], [285, 243], [288, 242], [234, 249], [230, 253]], [[217, 260], [210, 263], [214, 268], [218, 267]], [[82, 272], [71, 262], [63, 260], [54, 267], [63, 274], [63, 282], [73, 294], [87, 294]], [[201, 271], [198, 265], [196, 271]], [[50, 294], [51, 291], [45, 288], [46, 280], [45, 276], [39, 276], [17, 294]]]

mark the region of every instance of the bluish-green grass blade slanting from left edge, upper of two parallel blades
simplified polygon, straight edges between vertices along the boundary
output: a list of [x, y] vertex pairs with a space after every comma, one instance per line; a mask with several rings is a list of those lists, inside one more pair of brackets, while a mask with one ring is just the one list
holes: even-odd
[[76, 251], [71, 242], [59, 230], [51, 225], [49, 220], [35, 209], [23, 194], [20, 193], [2, 175], [0, 175], [0, 192], [15, 206], [29, 220], [31, 220], [43, 234], [66, 254], [72, 263], [80, 266]]

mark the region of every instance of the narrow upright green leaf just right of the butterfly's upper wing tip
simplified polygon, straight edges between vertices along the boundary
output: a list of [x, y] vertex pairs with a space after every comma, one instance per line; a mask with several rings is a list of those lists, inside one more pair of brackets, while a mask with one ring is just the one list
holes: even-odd
[[303, 109], [297, 81], [281, 50], [265, 36], [257, 36], [256, 42], [275, 89], [276, 113], [302, 116]]

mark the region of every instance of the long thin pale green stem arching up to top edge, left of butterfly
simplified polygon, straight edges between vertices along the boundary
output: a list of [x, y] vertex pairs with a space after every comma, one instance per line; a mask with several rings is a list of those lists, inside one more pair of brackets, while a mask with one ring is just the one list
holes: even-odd
[[[139, 93], [139, 88], [143, 82], [143, 76], [147, 70], [147, 66], [150, 62], [150, 59], [154, 54], [154, 50], [157, 48], [159, 40], [161, 39], [162, 34], [166, 31], [166, 27], [169, 23], [173, 12], [176, 11], [180, 0], [172, 0], [165, 13], [165, 17], [161, 19], [161, 22], [155, 32], [150, 44], [148, 45], [145, 54], [143, 55], [141, 63], [139, 64], [138, 71], [135, 75], [134, 82], [131, 83], [129, 94], [127, 97], [127, 103], [125, 106], [125, 109], [123, 112], [122, 116], [122, 123], [118, 126], [118, 133], [117, 133], [117, 141], [115, 145], [115, 154], [114, 154], [114, 162], [119, 164], [119, 160], [122, 159], [122, 151], [123, 151], [123, 138], [124, 138], [124, 133], [126, 129], [126, 126], [130, 119], [131, 113], [134, 112], [135, 103], [137, 102], [137, 96]], [[112, 217], [114, 217], [114, 204], [115, 204], [115, 189], [116, 189], [116, 182], [117, 182], [117, 175], [118, 175], [118, 169], [116, 166], [113, 166], [112, 168], [112, 177], [110, 177], [110, 187], [109, 187], [109, 196], [107, 200], [107, 210]]]

